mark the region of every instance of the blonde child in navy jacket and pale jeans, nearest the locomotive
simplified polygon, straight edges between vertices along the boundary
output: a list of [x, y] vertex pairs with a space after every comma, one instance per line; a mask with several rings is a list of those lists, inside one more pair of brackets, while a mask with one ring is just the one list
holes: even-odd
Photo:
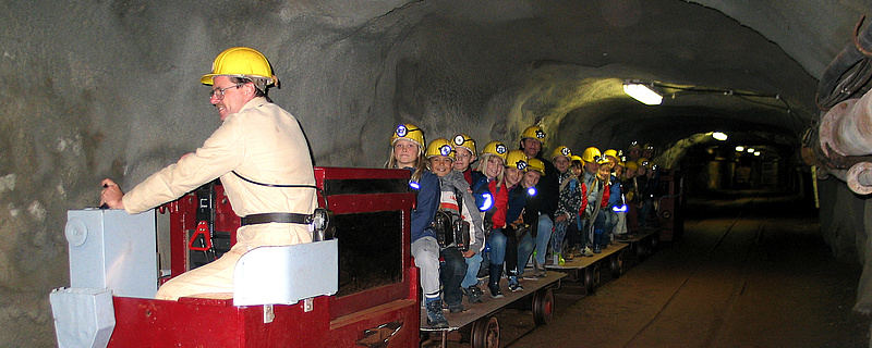
[[421, 289], [427, 309], [427, 325], [435, 328], [448, 327], [443, 314], [441, 293], [439, 290], [439, 244], [431, 228], [436, 209], [439, 207], [439, 178], [427, 171], [424, 158], [424, 132], [412, 124], [401, 124], [390, 138], [390, 157], [385, 167], [409, 170], [412, 177], [409, 186], [417, 192], [417, 203], [412, 211], [411, 240], [412, 257], [421, 269]]

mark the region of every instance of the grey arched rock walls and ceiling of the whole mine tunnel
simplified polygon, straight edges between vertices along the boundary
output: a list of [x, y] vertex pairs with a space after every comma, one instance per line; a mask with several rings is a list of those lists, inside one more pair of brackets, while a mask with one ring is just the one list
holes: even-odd
[[[428, 139], [462, 132], [480, 144], [514, 144], [524, 127], [540, 125], [549, 135], [545, 151], [652, 144], [657, 163], [685, 172], [691, 195], [774, 185], [811, 198], [808, 163], [833, 164], [800, 156], [815, 147], [819, 80], [868, 3], [37, 0], [0, 8], [0, 346], [36, 347], [53, 343], [47, 294], [69, 284], [66, 210], [96, 206], [104, 177], [130, 189], [202, 145], [219, 121], [199, 76], [228, 47], [270, 59], [281, 82], [270, 97], [300, 120], [316, 165], [382, 166], [399, 123], [421, 126]], [[627, 97], [626, 79], [656, 84], [663, 104]], [[715, 130], [729, 139], [711, 139]], [[736, 146], [762, 149], [761, 157], [739, 156]], [[748, 175], [737, 179], [736, 171]], [[868, 313], [872, 206], [836, 176], [816, 182], [821, 229], [836, 257], [865, 265], [855, 310]]]

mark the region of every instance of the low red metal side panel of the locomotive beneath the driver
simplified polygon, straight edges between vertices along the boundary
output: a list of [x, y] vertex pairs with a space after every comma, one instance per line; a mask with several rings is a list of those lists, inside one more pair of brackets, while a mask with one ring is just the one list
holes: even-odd
[[262, 306], [232, 306], [232, 300], [114, 298], [116, 330], [109, 347], [325, 347], [329, 301], [274, 306], [264, 323]]

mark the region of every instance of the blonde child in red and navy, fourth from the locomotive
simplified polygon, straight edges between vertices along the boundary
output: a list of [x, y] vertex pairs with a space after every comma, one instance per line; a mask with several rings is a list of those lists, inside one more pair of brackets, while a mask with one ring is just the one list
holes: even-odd
[[504, 297], [499, 289], [499, 278], [502, 275], [502, 262], [506, 260], [506, 235], [502, 234], [502, 228], [506, 227], [509, 190], [502, 183], [502, 170], [507, 152], [505, 144], [488, 142], [482, 150], [479, 170], [472, 173], [476, 206], [485, 212], [485, 232], [489, 229], [487, 244], [491, 246], [491, 265], [487, 289], [493, 298]]

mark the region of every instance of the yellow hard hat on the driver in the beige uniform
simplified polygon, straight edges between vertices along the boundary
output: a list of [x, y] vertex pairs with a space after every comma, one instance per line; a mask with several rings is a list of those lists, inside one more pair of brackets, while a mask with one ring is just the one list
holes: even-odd
[[199, 82], [204, 85], [211, 86], [215, 84], [213, 77], [215, 76], [234, 76], [246, 78], [264, 78], [267, 80], [266, 85], [272, 85], [278, 82], [276, 75], [272, 75], [272, 67], [266, 57], [253, 48], [247, 47], [233, 47], [225, 50], [215, 58], [211, 63], [211, 74], [203, 75]]

